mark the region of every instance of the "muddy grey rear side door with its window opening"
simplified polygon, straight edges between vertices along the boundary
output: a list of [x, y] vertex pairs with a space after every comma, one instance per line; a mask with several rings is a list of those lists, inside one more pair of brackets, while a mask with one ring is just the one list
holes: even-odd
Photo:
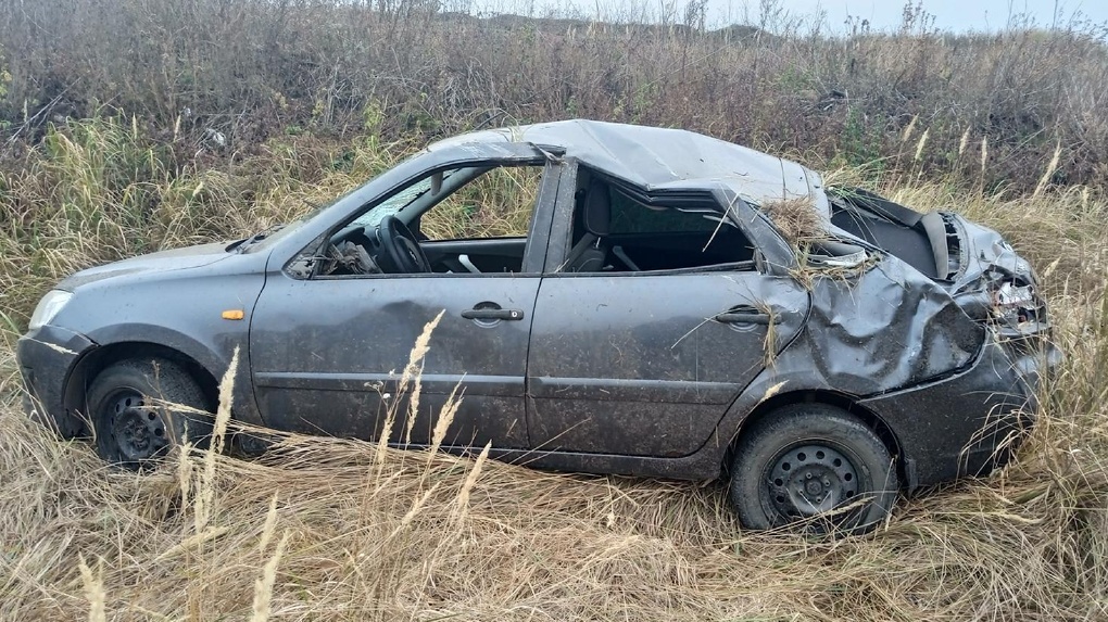
[[[808, 293], [790, 278], [759, 272], [741, 232], [714, 230], [718, 219], [696, 206], [669, 216], [653, 206], [638, 217], [626, 210], [644, 206], [623, 203], [612, 206], [612, 230], [595, 242], [607, 248], [603, 266], [555, 270], [540, 287], [527, 359], [531, 442], [560, 452], [684, 456], [797, 334]], [[680, 240], [687, 248], [671, 248]], [[553, 256], [553, 234], [551, 243]]]

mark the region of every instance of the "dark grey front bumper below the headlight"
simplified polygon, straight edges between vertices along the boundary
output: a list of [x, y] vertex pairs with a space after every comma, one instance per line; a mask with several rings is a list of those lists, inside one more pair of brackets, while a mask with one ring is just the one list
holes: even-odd
[[[92, 340], [80, 333], [45, 325], [21, 336], [16, 349], [27, 387], [24, 410], [66, 438], [88, 433], [80, 414], [68, 407], [73, 400], [66, 390], [81, 357], [95, 348]], [[79, 390], [83, 393], [84, 387]]]

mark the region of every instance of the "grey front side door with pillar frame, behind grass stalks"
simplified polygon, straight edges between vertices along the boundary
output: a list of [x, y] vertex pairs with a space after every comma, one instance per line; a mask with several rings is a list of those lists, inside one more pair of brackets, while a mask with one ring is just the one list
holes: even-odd
[[[443, 445], [526, 446], [524, 371], [558, 166], [542, 176], [520, 272], [270, 276], [250, 326], [250, 367], [264, 421], [304, 433], [431, 442], [443, 405], [460, 398]], [[537, 207], [546, 206], [546, 207]], [[480, 242], [475, 242], [480, 246]], [[535, 247], [535, 248], [532, 248]], [[417, 415], [397, 395], [428, 322]]]

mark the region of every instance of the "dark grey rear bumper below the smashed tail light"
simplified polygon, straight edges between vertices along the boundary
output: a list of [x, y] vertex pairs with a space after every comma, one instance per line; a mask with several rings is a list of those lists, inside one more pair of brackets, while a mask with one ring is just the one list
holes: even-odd
[[1048, 340], [1034, 351], [1013, 348], [992, 331], [962, 372], [860, 404], [896, 436], [909, 489], [985, 475], [1006, 464], [1032, 427], [1038, 391], [1061, 362]]

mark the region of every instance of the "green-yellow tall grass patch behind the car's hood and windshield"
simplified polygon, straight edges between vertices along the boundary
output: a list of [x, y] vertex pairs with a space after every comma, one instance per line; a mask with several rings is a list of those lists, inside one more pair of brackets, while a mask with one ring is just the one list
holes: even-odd
[[287, 222], [412, 148], [286, 137], [225, 163], [158, 142], [133, 117], [51, 128], [0, 168], [0, 312], [25, 321], [47, 288], [81, 268]]

